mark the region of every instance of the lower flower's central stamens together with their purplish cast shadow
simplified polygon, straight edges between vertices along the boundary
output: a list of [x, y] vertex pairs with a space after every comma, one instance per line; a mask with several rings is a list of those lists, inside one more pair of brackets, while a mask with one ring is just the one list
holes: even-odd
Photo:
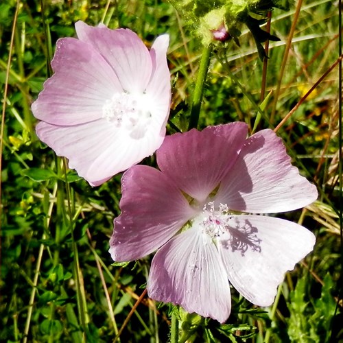
[[244, 255], [248, 248], [261, 251], [257, 228], [248, 220], [239, 220], [239, 215], [230, 214], [226, 204], [220, 204], [219, 210], [215, 211], [214, 203], [207, 203], [196, 224], [215, 245], [221, 244], [223, 248], [230, 248], [232, 251], [239, 250], [241, 255]]

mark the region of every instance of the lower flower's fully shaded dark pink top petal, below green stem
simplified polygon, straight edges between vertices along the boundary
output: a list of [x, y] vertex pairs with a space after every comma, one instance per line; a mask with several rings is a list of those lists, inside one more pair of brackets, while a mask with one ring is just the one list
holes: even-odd
[[202, 202], [234, 165], [247, 130], [245, 123], [237, 122], [167, 136], [156, 152], [158, 167]]

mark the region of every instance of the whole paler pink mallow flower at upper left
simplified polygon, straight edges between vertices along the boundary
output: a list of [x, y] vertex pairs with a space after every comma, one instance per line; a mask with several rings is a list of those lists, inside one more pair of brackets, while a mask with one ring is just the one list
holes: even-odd
[[153, 154], [165, 137], [171, 97], [169, 36], [150, 51], [130, 29], [75, 23], [61, 38], [54, 75], [32, 104], [36, 132], [97, 186]]

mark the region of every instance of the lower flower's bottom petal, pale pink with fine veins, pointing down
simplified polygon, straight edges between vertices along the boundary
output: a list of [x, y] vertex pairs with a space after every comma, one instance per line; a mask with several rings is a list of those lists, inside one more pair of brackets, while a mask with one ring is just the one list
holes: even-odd
[[177, 235], [156, 252], [147, 293], [219, 322], [230, 315], [227, 274], [211, 238], [198, 228]]

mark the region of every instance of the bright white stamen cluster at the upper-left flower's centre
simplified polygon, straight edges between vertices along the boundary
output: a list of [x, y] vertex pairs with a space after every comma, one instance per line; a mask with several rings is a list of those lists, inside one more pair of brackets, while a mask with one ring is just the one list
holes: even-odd
[[102, 106], [102, 117], [114, 122], [117, 128], [134, 130], [137, 126], [145, 127], [150, 122], [152, 114], [149, 108], [151, 103], [145, 93], [115, 93]]

